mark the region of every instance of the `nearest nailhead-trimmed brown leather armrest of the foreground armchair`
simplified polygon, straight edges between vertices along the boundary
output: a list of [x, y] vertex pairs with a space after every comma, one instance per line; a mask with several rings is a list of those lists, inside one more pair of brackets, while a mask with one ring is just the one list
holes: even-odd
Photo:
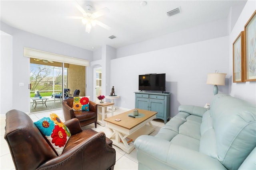
[[103, 170], [114, 166], [115, 162], [116, 150], [106, 144], [105, 134], [99, 132], [78, 145], [74, 144], [71, 150], [44, 162], [37, 170]]

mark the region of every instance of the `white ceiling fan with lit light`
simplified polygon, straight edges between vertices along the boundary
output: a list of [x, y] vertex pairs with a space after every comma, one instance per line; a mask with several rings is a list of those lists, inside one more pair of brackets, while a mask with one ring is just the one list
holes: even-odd
[[94, 13], [92, 13], [92, 6], [90, 5], [86, 5], [86, 11], [78, 4], [76, 4], [76, 8], [82, 12], [83, 16], [73, 16], [73, 17], [69, 17], [72, 19], [79, 19], [82, 20], [82, 23], [85, 24], [85, 31], [90, 33], [92, 26], [95, 26], [96, 24], [110, 30], [110, 27], [98, 20], [96, 20], [96, 18], [103, 16], [107, 13], [109, 13], [109, 9], [108, 8], [102, 8], [101, 10], [98, 10]]

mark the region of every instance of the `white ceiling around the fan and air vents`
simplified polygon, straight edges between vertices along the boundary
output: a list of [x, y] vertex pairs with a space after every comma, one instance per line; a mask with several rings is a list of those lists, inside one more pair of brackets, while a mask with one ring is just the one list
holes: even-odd
[[[94, 51], [102, 45], [114, 48], [146, 41], [160, 35], [187, 29], [202, 23], [228, 17], [232, 6], [244, 6], [246, 0], [148, 0], [142, 1], [77, 1], [92, 12], [107, 7], [110, 13], [98, 18], [110, 26], [98, 25], [85, 32], [81, 20], [68, 16], [82, 16], [74, 0], [1, 0], [1, 21], [18, 29]], [[181, 13], [167, 16], [166, 12], [181, 8]], [[226, 28], [225, 28], [226, 29]], [[109, 39], [115, 35], [115, 39]]]

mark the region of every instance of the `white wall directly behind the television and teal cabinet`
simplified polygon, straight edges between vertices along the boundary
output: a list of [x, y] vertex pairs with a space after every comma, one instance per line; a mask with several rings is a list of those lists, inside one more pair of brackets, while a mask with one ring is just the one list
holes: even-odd
[[[138, 75], [147, 73], [166, 73], [166, 92], [172, 94], [171, 117], [178, 113], [180, 104], [210, 103], [213, 86], [206, 84], [207, 74], [215, 70], [228, 73], [228, 41], [225, 36], [113, 59], [110, 82], [121, 96], [115, 104], [133, 109]], [[221, 92], [228, 93], [228, 80], [226, 86], [219, 86]]]

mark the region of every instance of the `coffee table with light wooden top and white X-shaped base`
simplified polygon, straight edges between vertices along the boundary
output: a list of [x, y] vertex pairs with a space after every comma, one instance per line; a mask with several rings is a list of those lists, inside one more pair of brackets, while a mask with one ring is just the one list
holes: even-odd
[[[128, 116], [133, 115], [133, 110], [130, 110], [104, 119], [107, 123], [106, 126], [112, 132], [108, 138], [113, 141], [113, 145], [116, 145], [126, 153], [130, 153], [134, 149], [133, 143], [129, 145], [126, 138], [135, 141], [140, 135], [148, 135], [156, 129], [150, 121], [156, 118], [157, 112], [143, 109], [137, 110], [139, 115], [136, 118]], [[121, 119], [121, 121], [115, 121], [115, 119]]]

